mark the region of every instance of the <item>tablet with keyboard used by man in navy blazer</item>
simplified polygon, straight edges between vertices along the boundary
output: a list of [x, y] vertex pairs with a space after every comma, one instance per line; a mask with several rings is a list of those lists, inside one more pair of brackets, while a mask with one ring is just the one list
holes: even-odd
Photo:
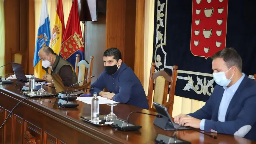
[[[174, 122], [172, 121], [171, 116], [169, 115], [169, 113], [168, 113], [168, 111], [167, 111], [167, 109], [166, 109], [165, 106], [160, 105], [159, 103], [155, 103], [155, 102], [153, 102], [153, 105], [154, 105], [154, 107], [156, 108], [158, 115], [163, 116], [163, 118], [156, 118], [156, 119], [154, 120], [154, 124], [155, 124], [155, 125], [157, 125], [157, 126], [163, 126], [162, 124], [163, 124], [164, 122], [162, 122], [161, 119], [167, 118], [168, 121], [166, 122], [166, 125], [163, 126], [163, 127], [161, 127], [161, 128], [163, 128], [164, 130], [177, 130], [177, 129], [185, 130], [185, 129], [189, 129], [189, 128], [187, 128], [187, 127], [182, 127], [182, 126], [180, 126], [179, 124], [174, 123]], [[159, 122], [158, 122], [157, 120], [158, 120]]]

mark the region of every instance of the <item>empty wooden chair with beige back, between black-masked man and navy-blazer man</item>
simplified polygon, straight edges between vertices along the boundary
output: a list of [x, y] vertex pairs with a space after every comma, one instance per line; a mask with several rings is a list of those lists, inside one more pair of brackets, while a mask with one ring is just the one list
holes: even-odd
[[[170, 114], [172, 115], [173, 103], [174, 103], [174, 93], [177, 80], [177, 68], [178, 66], [173, 66], [172, 75], [166, 71], [158, 71], [154, 73], [155, 63], [151, 63], [150, 77], [149, 77], [149, 91], [148, 91], [148, 102], [149, 110], [157, 112], [153, 107], [153, 102], [164, 105]], [[155, 80], [155, 83], [154, 83]], [[171, 84], [170, 90], [169, 84]], [[154, 95], [153, 95], [153, 85], [154, 85]], [[168, 97], [169, 93], [169, 97]]]

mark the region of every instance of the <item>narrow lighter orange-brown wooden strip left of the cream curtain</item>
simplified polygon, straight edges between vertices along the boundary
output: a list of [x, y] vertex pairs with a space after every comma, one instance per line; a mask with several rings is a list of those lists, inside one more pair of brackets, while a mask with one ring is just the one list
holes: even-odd
[[143, 84], [144, 77], [144, 0], [137, 0], [135, 31], [135, 64], [134, 72]]

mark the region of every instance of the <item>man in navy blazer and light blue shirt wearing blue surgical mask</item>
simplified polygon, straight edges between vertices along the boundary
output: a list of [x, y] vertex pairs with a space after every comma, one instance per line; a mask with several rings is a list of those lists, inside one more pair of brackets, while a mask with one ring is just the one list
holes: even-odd
[[174, 122], [256, 141], [256, 82], [241, 72], [242, 59], [234, 49], [222, 49], [212, 59], [216, 86], [209, 100], [194, 113], [175, 116]]

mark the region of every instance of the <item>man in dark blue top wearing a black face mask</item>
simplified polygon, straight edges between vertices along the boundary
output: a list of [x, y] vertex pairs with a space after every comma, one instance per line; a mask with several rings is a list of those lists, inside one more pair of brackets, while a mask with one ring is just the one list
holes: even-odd
[[[122, 63], [121, 52], [117, 48], [109, 48], [103, 54], [105, 70], [91, 85], [90, 93], [126, 103], [140, 108], [149, 108], [141, 81], [131, 68]], [[107, 87], [108, 92], [102, 91]]]

